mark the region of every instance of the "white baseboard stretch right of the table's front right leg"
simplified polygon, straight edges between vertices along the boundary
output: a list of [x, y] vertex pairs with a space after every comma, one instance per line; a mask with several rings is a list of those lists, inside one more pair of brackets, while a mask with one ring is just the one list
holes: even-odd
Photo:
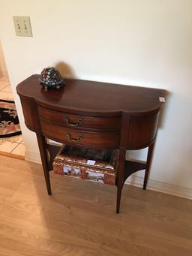
[[[136, 187], [142, 188], [143, 178], [136, 175], [132, 175], [131, 179], [126, 180], [125, 184], [134, 185]], [[172, 185], [165, 182], [158, 182], [152, 179], [148, 180], [147, 189], [158, 191], [165, 194], [172, 194], [177, 197], [192, 199], [192, 188], [179, 187], [177, 185]]]

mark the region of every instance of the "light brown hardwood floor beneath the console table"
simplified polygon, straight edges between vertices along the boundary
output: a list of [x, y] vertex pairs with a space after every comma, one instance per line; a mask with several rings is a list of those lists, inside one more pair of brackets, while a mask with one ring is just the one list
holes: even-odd
[[0, 155], [0, 255], [192, 255], [192, 201], [51, 173]]

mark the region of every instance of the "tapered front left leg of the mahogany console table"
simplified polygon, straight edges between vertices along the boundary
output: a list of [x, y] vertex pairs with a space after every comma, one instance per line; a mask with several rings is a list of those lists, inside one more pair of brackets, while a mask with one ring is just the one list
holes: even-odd
[[45, 176], [46, 181], [46, 189], [47, 193], [51, 194], [51, 184], [50, 184], [50, 178], [49, 178], [49, 165], [47, 161], [47, 155], [46, 155], [46, 142], [45, 138], [42, 134], [36, 134], [37, 135], [37, 142], [40, 149], [40, 157], [43, 165], [43, 173]]

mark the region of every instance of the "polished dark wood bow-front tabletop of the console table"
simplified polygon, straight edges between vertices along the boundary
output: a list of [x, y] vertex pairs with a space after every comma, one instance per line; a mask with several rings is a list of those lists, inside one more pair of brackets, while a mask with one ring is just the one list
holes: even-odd
[[66, 80], [64, 89], [45, 92], [38, 83], [39, 76], [28, 77], [17, 86], [19, 95], [35, 98], [37, 104], [52, 110], [87, 116], [114, 116], [121, 112], [145, 115], [157, 112], [163, 105], [162, 89], [122, 86], [86, 80]]

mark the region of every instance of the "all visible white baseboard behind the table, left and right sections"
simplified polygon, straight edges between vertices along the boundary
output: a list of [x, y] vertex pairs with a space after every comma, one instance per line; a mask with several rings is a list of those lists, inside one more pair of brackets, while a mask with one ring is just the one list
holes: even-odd
[[[38, 164], [41, 164], [40, 154], [38, 152], [26, 151], [26, 161], [32, 161]], [[125, 184], [134, 185], [136, 187], [142, 188], [143, 178], [132, 175], [129, 179], [126, 180]], [[172, 194], [178, 197], [184, 197], [192, 199], [192, 188], [179, 187], [177, 185], [168, 184], [165, 182], [158, 182], [152, 179], [148, 180], [147, 189], [158, 191], [165, 194]]]

